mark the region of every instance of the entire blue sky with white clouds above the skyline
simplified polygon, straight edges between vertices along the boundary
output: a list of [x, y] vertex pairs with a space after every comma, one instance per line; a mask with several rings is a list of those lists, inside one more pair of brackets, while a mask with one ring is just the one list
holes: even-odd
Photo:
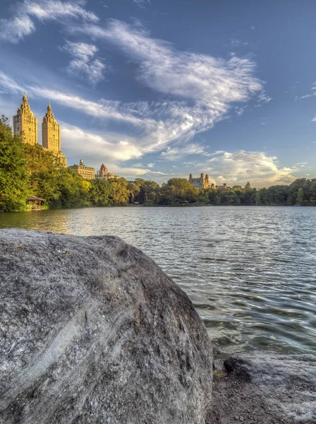
[[[316, 177], [315, 0], [1, 0], [0, 113], [49, 100], [68, 165]], [[39, 136], [39, 142], [41, 137]]]

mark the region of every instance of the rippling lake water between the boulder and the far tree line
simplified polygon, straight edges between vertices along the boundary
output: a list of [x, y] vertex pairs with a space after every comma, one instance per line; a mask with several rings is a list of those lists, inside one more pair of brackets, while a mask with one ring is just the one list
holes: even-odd
[[188, 293], [221, 353], [316, 352], [316, 208], [0, 213], [0, 228], [117, 235]]

